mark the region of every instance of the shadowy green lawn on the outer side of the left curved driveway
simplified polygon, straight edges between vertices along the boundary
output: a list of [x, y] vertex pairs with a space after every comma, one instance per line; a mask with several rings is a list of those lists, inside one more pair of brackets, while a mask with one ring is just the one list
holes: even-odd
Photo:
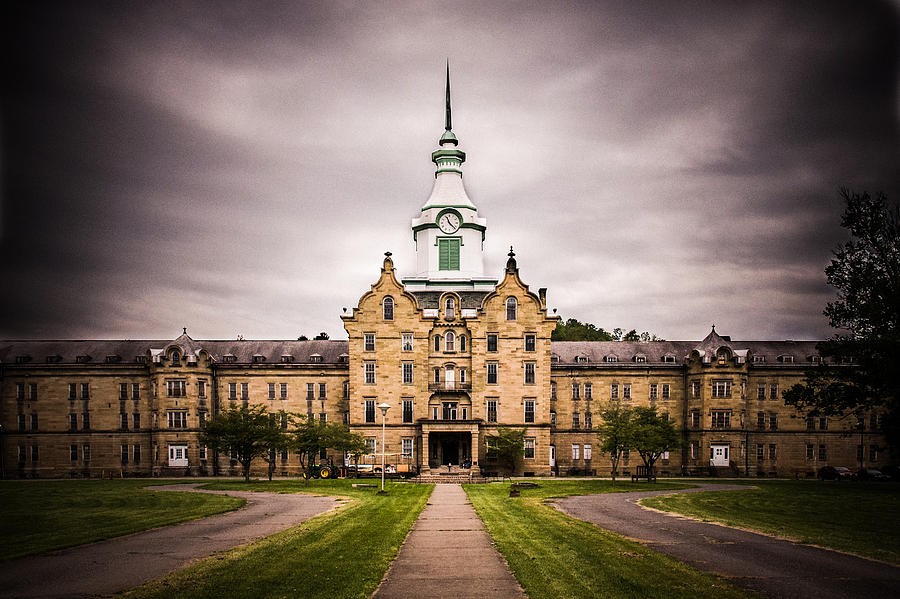
[[236, 497], [141, 489], [153, 484], [166, 483], [150, 480], [2, 481], [0, 560], [118, 537], [244, 505], [244, 500]]

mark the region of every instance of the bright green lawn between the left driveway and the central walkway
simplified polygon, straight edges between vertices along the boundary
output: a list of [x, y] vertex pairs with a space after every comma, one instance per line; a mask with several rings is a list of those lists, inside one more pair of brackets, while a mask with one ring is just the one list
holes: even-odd
[[354, 489], [349, 480], [217, 482], [211, 489], [312, 492], [342, 495], [352, 501], [221, 556], [199, 562], [127, 597], [369, 597], [400, 550], [425, 507], [431, 485], [390, 484], [386, 496], [376, 489]]

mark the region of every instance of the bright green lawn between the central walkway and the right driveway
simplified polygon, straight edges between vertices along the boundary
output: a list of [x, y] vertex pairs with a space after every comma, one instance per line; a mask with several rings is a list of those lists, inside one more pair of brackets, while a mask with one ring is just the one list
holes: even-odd
[[530, 599], [756, 597], [544, 504], [549, 497], [676, 489], [688, 483], [537, 482], [537, 489], [525, 489], [518, 498], [509, 497], [507, 484], [464, 486]]

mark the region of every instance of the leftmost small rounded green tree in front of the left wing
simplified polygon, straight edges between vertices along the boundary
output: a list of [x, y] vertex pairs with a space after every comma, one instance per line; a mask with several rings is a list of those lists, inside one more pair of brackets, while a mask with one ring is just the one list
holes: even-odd
[[222, 410], [206, 423], [200, 443], [213, 451], [230, 453], [241, 464], [244, 480], [250, 482], [253, 458], [264, 457], [281, 446], [282, 431], [272, 426], [265, 406], [241, 406]]

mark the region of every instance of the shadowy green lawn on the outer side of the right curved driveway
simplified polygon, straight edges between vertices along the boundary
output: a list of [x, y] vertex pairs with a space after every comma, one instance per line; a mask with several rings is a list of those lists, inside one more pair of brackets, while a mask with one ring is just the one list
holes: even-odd
[[900, 564], [900, 485], [760, 480], [757, 489], [648, 497], [647, 507]]

